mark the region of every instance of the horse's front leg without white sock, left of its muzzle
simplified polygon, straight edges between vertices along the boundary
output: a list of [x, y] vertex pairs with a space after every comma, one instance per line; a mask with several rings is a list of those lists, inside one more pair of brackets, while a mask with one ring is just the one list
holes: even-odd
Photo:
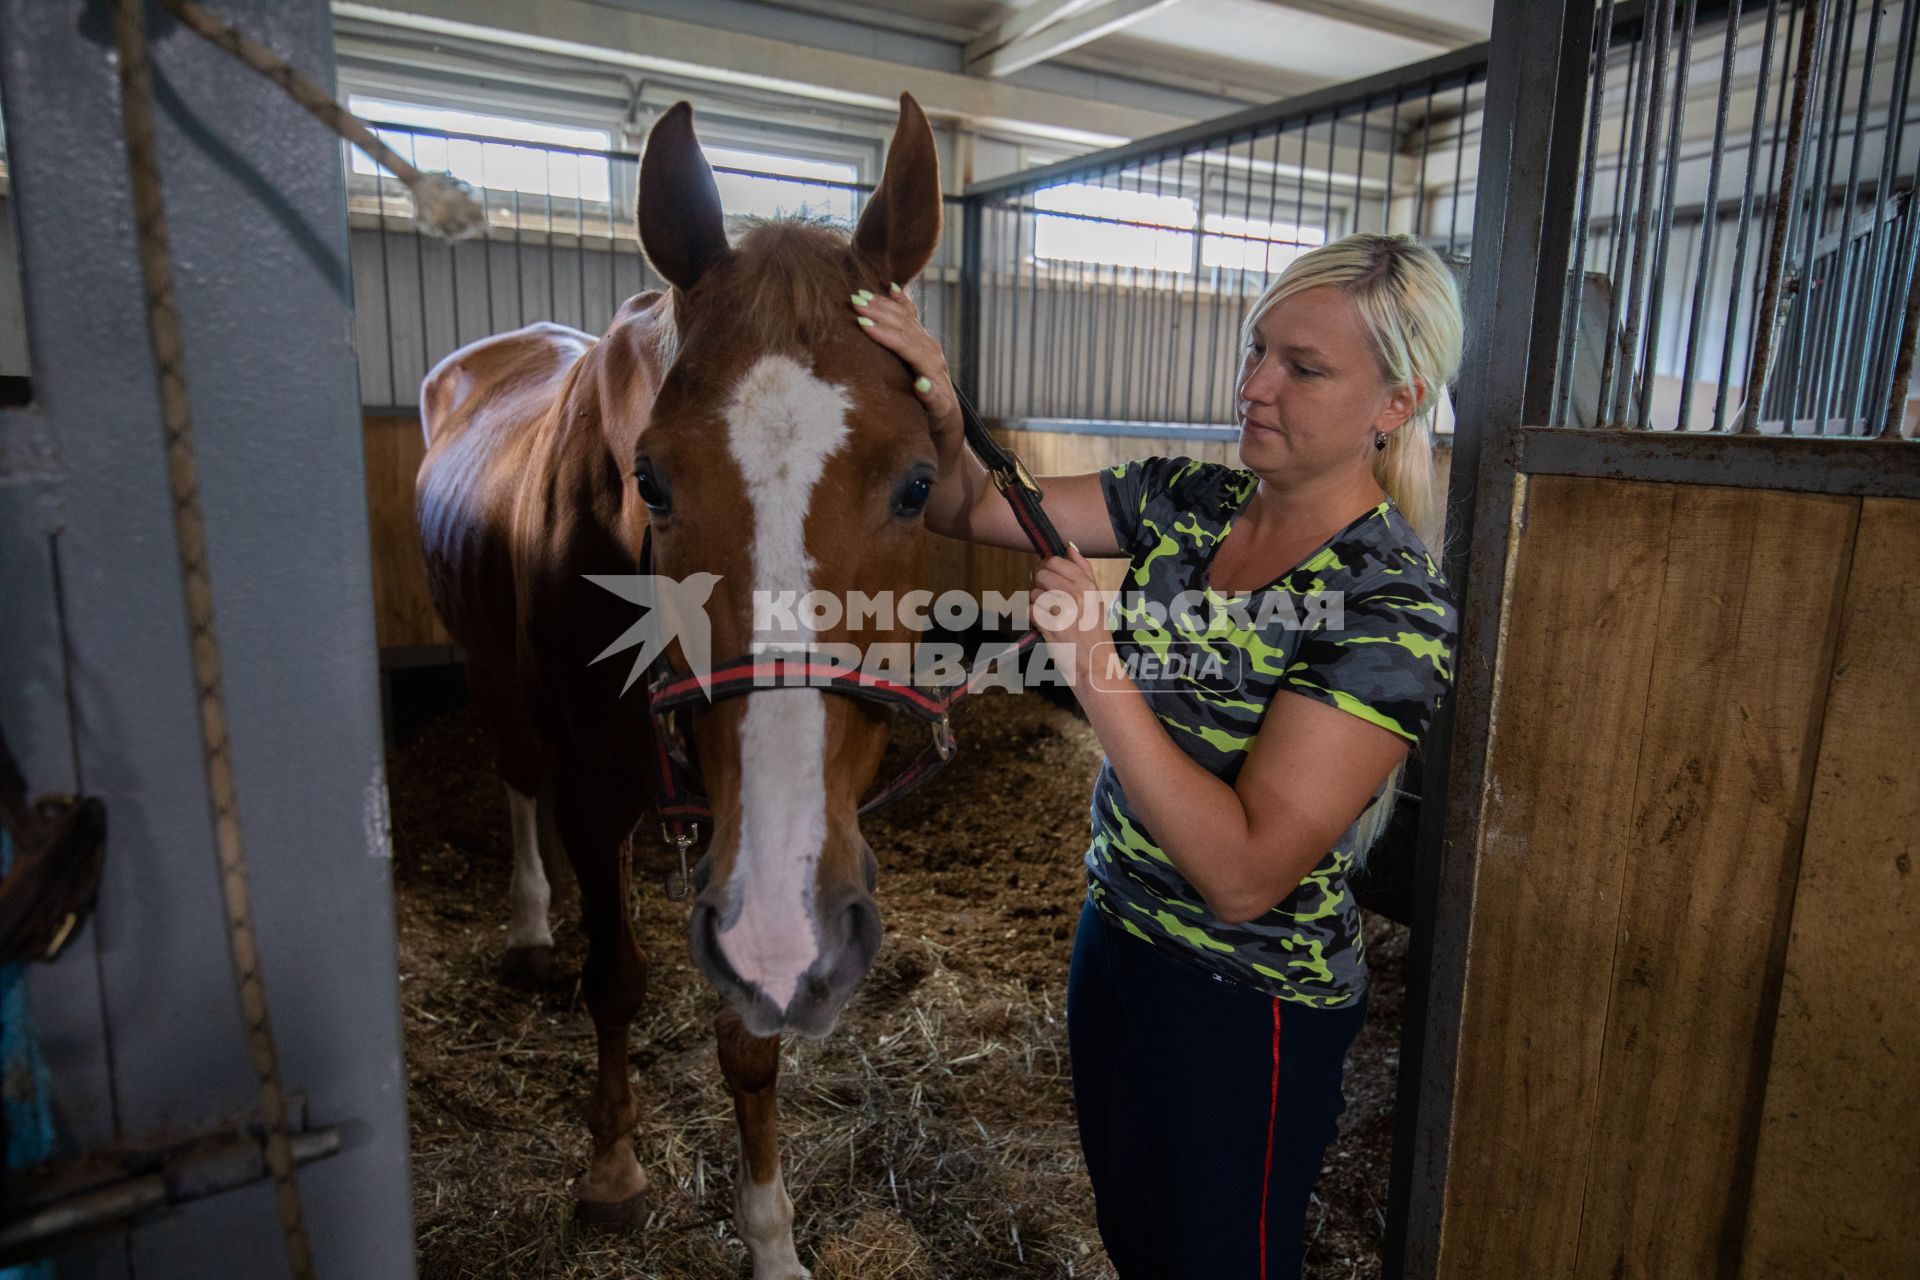
[[564, 766], [557, 771], [553, 818], [580, 883], [580, 919], [588, 935], [580, 984], [599, 1042], [599, 1075], [588, 1105], [593, 1163], [576, 1186], [574, 1207], [582, 1222], [636, 1228], [647, 1219], [647, 1174], [634, 1159], [636, 1107], [628, 1082], [628, 1032], [647, 996], [647, 958], [634, 942], [628, 913], [630, 885], [622, 844], [634, 814], [626, 812], [618, 796], [620, 789], [595, 787]]

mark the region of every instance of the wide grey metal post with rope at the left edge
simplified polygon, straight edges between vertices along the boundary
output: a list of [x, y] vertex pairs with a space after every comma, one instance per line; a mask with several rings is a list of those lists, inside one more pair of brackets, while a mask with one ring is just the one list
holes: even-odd
[[[223, 0], [323, 83], [321, 4]], [[106, 800], [98, 915], [29, 1000], [67, 1153], [255, 1109], [194, 725], [109, 6], [0, 0], [35, 403], [0, 415], [0, 718]], [[378, 666], [338, 144], [154, 23], [157, 129], [261, 967], [321, 1276], [413, 1276]], [[58, 574], [58, 591], [56, 591]], [[71, 1251], [65, 1280], [284, 1274], [271, 1184]]]

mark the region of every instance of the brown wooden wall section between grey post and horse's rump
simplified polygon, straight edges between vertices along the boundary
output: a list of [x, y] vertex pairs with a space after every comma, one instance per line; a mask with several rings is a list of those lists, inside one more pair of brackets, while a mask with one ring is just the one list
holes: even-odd
[[451, 645], [426, 595], [426, 562], [413, 516], [413, 478], [426, 457], [417, 418], [369, 416], [361, 426], [367, 451], [367, 541], [372, 551], [372, 616], [380, 649]]

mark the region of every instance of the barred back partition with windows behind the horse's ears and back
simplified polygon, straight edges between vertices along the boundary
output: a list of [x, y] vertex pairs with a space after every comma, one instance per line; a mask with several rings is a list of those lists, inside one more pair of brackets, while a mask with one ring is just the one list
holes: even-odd
[[[407, 190], [355, 148], [348, 165], [349, 257], [361, 401], [411, 416], [426, 372], [467, 342], [536, 320], [603, 334], [634, 294], [662, 288], [639, 248], [636, 152], [518, 142], [411, 125], [376, 125], [396, 152], [468, 180], [486, 228], [447, 244], [413, 225]], [[716, 165], [722, 203], [851, 225], [874, 186]], [[916, 286], [935, 338], [958, 336], [964, 217], [947, 230]], [[409, 482], [411, 484], [411, 482]]]

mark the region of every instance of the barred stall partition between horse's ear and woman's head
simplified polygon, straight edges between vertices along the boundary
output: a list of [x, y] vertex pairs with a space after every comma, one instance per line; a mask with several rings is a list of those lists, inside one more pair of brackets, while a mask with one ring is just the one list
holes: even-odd
[[966, 390], [1027, 428], [1231, 424], [1240, 319], [1298, 253], [1459, 259], [1486, 46], [968, 188]]

